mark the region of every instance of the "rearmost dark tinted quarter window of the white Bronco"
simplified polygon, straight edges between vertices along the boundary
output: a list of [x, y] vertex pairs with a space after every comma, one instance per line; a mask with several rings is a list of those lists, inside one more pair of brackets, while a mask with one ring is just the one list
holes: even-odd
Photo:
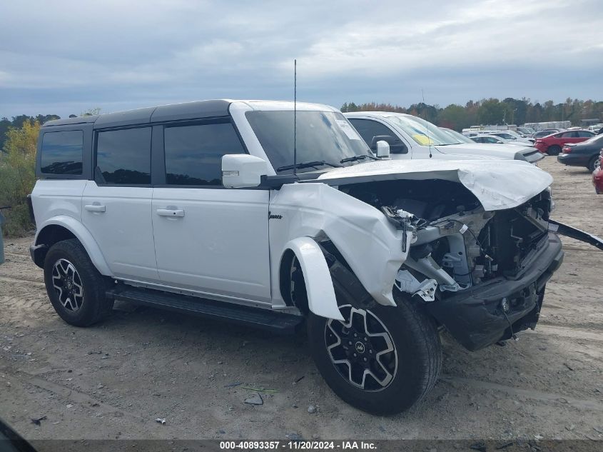
[[81, 174], [83, 132], [48, 132], [42, 137], [41, 172], [45, 174]]

